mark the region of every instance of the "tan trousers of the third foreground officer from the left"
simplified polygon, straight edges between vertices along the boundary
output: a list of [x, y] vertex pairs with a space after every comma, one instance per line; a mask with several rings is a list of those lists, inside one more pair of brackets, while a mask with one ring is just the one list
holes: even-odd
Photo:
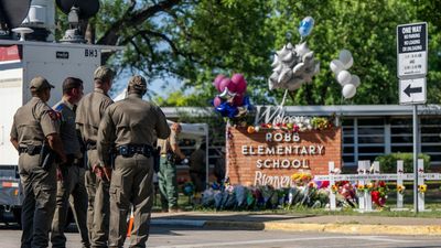
[[92, 168], [99, 164], [97, 150], [87, 151], [89, 170], [85, 173], [88, 195], [87, 228], [93, 248], [107, 247], [109, 238], [109, 186], [110, 182], [98, 179]]

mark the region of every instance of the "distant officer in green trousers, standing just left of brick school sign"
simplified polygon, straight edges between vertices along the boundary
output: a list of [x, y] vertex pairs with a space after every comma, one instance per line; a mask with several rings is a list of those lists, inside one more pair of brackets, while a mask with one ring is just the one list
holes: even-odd
[[162, 212], [176, 213], [180, 211], [178, 207], [176, 161], [185, 159], [185, 154], [179, 147], [181, 130], [180, 123], [173, 123], [170, 137], [158, 139], [158, 147], [161, 148], [158, 187], [161, 194]]

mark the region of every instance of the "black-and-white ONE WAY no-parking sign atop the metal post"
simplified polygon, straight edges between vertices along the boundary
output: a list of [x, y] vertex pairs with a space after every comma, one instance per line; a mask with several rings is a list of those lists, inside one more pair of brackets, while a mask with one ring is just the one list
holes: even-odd
[[397, 26], [398, 78], [424, 77], [428, 71], [427, 22]]

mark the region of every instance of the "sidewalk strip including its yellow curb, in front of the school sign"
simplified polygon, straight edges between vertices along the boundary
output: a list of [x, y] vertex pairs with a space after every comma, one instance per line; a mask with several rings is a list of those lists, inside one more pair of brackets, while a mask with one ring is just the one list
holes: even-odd
[[365, 235], [441, 236], [441, 218], [256, 214], [245, 212], [152, 213], [152, 225], [175, 225], [230, 229], [324, 231]]

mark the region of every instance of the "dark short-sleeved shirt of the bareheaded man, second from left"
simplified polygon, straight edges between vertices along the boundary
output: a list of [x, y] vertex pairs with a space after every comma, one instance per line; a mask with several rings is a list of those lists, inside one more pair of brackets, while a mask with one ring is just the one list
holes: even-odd
[[75, 106], [66, 100], [61, 100], [54, 106], [54, 110], [62, 116], [60, 136], [63, 141], [64, 152], [66, 154], [79, 155], [80, 145], [75, 128], [74, 108]]

